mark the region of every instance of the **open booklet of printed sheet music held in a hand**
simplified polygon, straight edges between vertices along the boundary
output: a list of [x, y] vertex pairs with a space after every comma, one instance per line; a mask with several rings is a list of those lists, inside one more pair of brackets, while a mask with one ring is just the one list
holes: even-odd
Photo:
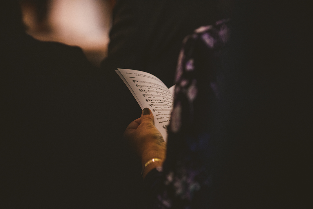
[[124, 81], [141, 109], [148, 107], [153, 111], [155, 126], [167, 141], [175, 85], [167, 88], [156, 76], [139, 70], [118, 69], [115, 72]]

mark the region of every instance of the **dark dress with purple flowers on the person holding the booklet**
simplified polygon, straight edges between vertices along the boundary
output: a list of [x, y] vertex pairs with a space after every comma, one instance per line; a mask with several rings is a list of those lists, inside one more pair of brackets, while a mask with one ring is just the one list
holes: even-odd
[[212, 205], [214, 116], [218, 69], [228, 42], [227, 20], [203, 26], [183, 41], [175, 77], [175, 102], [163, 167], [144, 181], [147, 208], [208, 208]]

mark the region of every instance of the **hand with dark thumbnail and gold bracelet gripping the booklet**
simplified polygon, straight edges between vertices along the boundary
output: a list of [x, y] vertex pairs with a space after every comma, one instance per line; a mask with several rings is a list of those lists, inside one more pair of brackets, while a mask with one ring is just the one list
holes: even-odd
[[144, 108], [141, 118], [128, 125], [124, 132], [124, 138], [128, 140], [133, 150], [141, 158], [142, 166], [152, 158], [161, 159], [161, 161], [147, 165], [143, 177], [156, 166], [162, 166], [166, 155], [166, 143], [154, 125], [154, 117], [149, 108]]

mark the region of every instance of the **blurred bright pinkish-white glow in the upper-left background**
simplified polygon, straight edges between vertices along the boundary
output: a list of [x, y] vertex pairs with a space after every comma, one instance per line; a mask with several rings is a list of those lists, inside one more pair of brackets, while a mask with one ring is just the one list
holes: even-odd
[[53, 0], [49, 22], [60, 41], [82, 48], [103, 48], [109, 42], [110, 6], [101, 0]]

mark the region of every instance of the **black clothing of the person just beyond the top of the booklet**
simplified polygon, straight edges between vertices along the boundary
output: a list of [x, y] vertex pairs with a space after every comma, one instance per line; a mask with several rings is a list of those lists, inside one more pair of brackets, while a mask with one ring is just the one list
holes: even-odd
[[174, 83], [183, 38], [216, 20], [216, 1], [117, 1], [101, 68], [141, 70]]

